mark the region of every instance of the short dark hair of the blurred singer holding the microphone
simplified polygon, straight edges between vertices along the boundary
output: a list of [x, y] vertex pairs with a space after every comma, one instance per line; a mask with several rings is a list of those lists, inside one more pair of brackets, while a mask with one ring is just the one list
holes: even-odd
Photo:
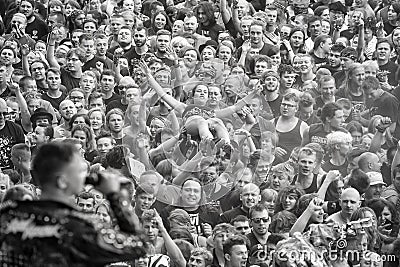
[[33, 179], [41, 186], [55, 182], [54, 177], [71, 163], [77, 154], [79, 151], [72, 144], [61, 142], [43, 144], [32, 162]]

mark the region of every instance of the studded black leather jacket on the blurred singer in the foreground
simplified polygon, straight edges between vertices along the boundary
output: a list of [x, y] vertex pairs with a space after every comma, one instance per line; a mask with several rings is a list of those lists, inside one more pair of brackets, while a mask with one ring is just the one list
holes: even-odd
[[107, 196], [118, 226], [55, 201], [0, 206], [0, 266], [104, 266], [145, 256], [128, 202]]

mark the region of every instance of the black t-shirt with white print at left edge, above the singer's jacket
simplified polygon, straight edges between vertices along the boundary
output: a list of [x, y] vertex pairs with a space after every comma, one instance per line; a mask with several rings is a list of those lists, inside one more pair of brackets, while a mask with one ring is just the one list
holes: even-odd
[[15, 144], [24, 143], [25, 136], [21, 126], [11, 121], [6, 121], [3, 129], [0, 130], [0, 168], [11, 169], [11, 148]]

